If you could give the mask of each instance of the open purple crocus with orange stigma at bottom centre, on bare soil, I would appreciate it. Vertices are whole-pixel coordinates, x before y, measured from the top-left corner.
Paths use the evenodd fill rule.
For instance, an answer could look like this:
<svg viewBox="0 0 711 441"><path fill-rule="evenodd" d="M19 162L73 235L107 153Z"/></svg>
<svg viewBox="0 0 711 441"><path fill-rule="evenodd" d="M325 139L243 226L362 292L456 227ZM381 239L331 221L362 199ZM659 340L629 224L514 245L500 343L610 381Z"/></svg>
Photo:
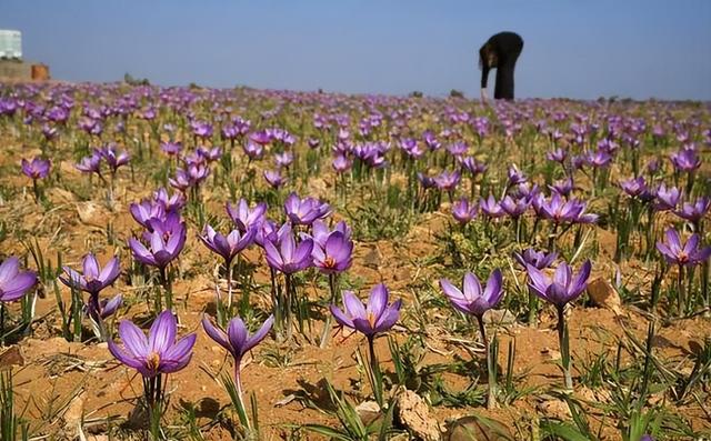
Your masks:
<svg viewBox="0 0 711 441"><path fill-rule="evenodd" d="M343 311L331 304L331 313L339 324L372 339L375 334L388 331L400 319L402 300L388 304L388 288L382 283L373 287L365 305L352 291L343 291Z"/></svg>

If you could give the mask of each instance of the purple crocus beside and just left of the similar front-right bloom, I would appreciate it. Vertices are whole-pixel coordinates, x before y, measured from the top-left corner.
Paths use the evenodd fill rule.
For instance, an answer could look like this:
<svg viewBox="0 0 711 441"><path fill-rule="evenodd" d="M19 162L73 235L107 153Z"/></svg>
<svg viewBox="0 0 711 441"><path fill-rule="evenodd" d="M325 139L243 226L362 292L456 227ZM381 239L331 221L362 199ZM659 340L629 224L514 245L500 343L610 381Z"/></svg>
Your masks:
<svg viewBox="0 0 711 441"><path fill-rule="evenodd" d="M449 280L440 279L440 288L454 309L477 318L483 317L484 312L499 304L503 297L502 283L501 270L499 269L491 273L487 281L487 288L483 290L477 275L471 272L464 274L462 290L454 287Z"/></svg>

